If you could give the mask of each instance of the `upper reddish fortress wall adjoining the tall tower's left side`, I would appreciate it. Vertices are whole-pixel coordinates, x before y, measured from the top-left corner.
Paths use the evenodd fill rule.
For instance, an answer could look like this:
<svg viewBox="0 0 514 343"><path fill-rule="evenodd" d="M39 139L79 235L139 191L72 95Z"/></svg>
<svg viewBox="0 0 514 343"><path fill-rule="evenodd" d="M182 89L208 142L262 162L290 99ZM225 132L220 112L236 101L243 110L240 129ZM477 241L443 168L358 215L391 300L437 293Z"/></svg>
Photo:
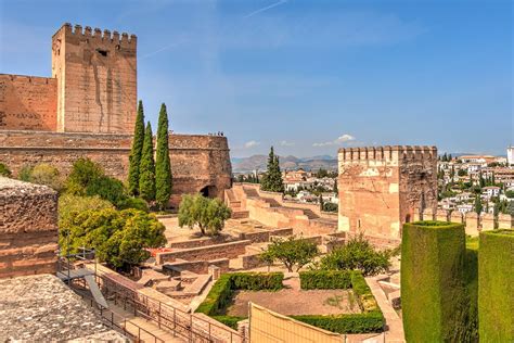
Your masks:
<svg viewBox="0 0 514 343"><path fill-rule="evenodd" d="M55 78L0 74L0 129L52 131L56 111Z"/></svg>

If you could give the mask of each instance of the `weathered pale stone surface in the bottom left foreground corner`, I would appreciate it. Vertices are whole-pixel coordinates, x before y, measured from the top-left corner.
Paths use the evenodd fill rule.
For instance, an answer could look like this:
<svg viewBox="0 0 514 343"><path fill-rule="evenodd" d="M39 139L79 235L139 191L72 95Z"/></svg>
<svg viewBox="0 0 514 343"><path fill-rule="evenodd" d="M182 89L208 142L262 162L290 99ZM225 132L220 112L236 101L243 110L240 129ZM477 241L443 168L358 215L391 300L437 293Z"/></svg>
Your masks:
<svg viewBox="0 0 514 343"><path fill-rule="evenodd" d="M83 342L81 338L102 336L126 341L55 276L0 280L0 294L1 342Z"/></svg>

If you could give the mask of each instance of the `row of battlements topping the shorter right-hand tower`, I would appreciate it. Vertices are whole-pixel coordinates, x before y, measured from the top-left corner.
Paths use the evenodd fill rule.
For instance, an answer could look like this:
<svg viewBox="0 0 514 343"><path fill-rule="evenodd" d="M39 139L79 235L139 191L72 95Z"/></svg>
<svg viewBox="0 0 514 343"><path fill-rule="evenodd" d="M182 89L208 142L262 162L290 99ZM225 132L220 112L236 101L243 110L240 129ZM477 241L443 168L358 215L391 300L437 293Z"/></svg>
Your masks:
<svg viewBox="0 0 514 343"><path fill-rule="evenodd" d="M339 162L367 161L415 161L437 158L437 148L427 145L383 145L342 148L338 151Z"/></svg>

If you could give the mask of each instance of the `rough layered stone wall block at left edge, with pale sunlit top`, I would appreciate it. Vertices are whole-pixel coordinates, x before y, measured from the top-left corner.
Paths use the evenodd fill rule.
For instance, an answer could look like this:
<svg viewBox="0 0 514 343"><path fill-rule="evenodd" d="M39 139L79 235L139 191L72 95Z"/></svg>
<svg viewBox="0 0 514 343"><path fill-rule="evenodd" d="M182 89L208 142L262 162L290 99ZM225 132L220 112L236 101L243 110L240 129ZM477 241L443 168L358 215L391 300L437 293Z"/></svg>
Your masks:
<svg viewBox="0 0 514 343"><path fill-rule="evenodd" d="M53 274L56 250L55 191L0 177L0 278Z"/></svg>

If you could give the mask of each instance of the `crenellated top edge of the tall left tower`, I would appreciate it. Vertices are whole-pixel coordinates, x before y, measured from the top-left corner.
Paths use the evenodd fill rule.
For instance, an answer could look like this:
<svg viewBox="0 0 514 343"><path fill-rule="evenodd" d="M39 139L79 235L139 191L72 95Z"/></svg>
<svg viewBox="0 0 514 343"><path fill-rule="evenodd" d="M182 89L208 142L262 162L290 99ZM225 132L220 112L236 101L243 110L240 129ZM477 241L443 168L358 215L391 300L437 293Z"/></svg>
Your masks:
<svg viewBox="0 0 514 343"><path fill-rule="evenodd" d="M78 38L80 41L86 41L87 43L102 42L103 45L120 46L126 49L136 49L138 42L136 35L129 35L127 33L121 33L120 35L116 30L111 33L108 29L102 30L98 27L91 28L90 26L86 26L82 29L81 25L77 24L72 26L69 23L63 24L52 38L55 38L60 34L64 34L65 38Z"/></svg>

